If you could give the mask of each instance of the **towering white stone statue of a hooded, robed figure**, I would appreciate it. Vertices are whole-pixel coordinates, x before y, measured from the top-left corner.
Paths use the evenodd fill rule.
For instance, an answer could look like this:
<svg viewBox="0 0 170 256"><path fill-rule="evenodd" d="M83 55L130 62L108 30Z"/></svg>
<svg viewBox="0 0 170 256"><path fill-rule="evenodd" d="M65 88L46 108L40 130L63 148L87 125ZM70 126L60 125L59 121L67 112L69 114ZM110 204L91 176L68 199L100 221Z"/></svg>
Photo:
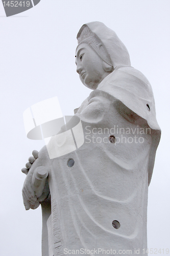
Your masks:
<svg viewBox="0 0 170 256"><path fill-rule="evenodd" d="M56 135L39 153L34 151L23 169L28 173L23 202L27 210L41 202L43 256L143 255L148 185L160 140L152 88L103 23L83 25L77 38L77 72L93 90L74 116L81 120L84 143L50 159ZM67 129L74 125L72 118ZM68 146L65 138L59 148ZM32 179L39 166L48 178L38 194Z"/></svg>

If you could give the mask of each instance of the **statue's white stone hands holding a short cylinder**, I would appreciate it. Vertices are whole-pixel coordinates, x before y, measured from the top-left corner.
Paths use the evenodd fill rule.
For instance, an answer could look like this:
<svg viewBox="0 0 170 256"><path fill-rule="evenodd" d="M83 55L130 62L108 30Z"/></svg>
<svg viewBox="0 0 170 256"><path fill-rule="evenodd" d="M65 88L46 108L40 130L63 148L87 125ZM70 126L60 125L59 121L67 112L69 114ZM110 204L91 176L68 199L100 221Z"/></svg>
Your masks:
<svg viewBox="0 0 170 256"><path fill-rule="evenodd" d="M47 172L50 168L46 148L43 147L39 153L38 151L33 151L32 154L33 157L30 157L29 162L26 164L27 168L22 168L22 173L27 175L22 188L23 204L25 205L26 210L29 210L30 208L36 209L40 202L44 201L50 193L47 179L45 182L41 182L41 185L37 187L38 183L35 181L34 177L37 175L38 168L46 169Z"/></svg>

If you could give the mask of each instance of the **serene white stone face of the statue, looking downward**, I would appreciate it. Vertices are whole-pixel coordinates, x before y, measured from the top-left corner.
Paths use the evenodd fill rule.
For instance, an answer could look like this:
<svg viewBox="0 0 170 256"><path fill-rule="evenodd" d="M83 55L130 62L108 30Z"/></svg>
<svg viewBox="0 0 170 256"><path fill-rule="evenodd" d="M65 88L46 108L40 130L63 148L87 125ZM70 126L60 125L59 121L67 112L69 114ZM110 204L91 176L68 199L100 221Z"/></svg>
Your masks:
<svg viewBox="0 0 170 256"><path fill-rule="evenodd" d="M87 44L77 48L76 65L80 80L92 90L108 75L103 68L102 58Z"/></svg>

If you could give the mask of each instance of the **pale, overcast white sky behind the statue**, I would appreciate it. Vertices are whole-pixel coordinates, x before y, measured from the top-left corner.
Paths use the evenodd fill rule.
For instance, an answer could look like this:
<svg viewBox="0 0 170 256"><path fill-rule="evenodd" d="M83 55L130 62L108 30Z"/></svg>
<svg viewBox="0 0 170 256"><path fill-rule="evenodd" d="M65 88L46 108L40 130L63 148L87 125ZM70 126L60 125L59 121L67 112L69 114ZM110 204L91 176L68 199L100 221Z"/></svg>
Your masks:
<svg viewBox="0 0 170 256"><path fill-rule="evenodd" d="M41 255L41 209L25 210L20 170L44 143L27 138L22 113L58 96L63 114L72 115L89 95L76 73L75 49L80 27L92 21L117 33L132 67L151 82L162 137L149 187L148 248L170 249L169 9L168 0L41 0L7 18L0 2L2 256Z"/></svg>

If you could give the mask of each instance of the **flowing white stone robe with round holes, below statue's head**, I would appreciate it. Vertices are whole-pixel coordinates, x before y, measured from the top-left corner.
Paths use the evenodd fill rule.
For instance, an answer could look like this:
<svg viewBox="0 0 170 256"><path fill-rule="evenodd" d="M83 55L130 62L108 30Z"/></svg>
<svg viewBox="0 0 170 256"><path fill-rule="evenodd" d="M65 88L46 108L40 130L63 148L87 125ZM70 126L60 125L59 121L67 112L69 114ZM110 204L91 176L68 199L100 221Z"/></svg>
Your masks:
<svg viewBox="0 0 170 256"><path fill-rule="evenodd" d="M160 140L150 83L132 67L118 66L75 116L81 119L84 144L50 160L49 256L74 250L93 255L94 249L99 255L113 255L111 249L135 255L139 249L143 255L148 184ZM109 142L110 135L116 143ZM62 146L66 145L67 138ZM69 159L75 161L72 167ZM114 220L118 229L112 226Z"/></svg>

